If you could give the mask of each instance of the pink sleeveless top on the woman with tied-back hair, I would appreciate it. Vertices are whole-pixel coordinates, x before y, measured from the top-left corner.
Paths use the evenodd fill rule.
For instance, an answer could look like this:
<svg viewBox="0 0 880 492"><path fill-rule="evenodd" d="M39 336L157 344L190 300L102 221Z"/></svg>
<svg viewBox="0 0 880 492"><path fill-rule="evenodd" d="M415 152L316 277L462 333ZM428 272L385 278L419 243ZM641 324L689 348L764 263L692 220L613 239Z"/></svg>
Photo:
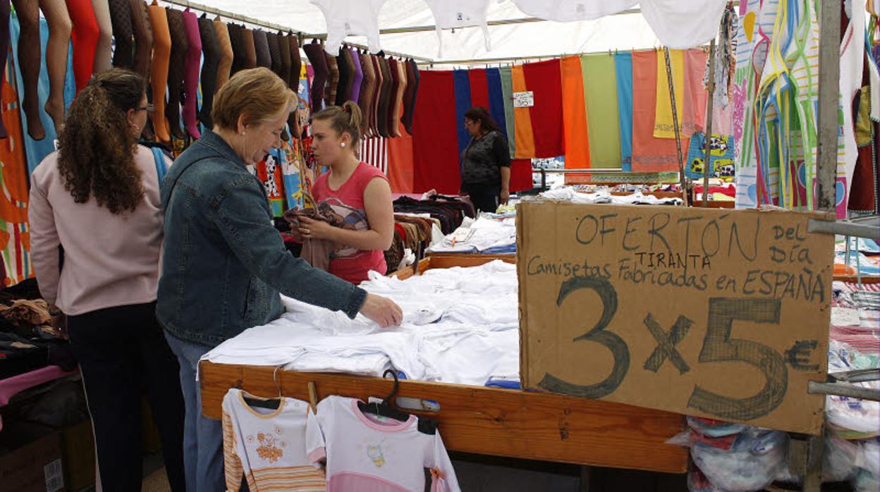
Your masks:
<svg viewBox="0 0 880 492"><path fill-rule="evenodd" d="M321 214L331 217L332 223L342 229L369 231L370 222L363 207L363 191L374 178L385 181L388 178L377 167L362 162L339 189L333 190L327 183L329 175L321 174L312 187L312 196ZM330 255L330 273L350 283L367 280L370 270L384 275L386 268L385 253L378 249L363 251L342 247Z"/></svg>

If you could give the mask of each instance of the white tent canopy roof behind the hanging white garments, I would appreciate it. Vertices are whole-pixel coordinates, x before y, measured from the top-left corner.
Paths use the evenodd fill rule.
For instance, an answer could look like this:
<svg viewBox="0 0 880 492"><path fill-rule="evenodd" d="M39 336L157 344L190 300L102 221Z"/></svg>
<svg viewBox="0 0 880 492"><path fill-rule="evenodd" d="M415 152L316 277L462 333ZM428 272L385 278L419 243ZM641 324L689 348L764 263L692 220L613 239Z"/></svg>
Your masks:
<svg viewBox="0 0 880 492"><path fill-rule="evenodd" d="M330 0L333 1L333 0ZM627 0L583 0L587 3L622 5ZM643 0L647 1L647 0ZM655 4L700 4L711 11L709 5L723 4L723 0L652 0ZM238 15L257 18L304 33L326 33L326 20L320 9L309 0L202 0L205 5L231 11ZM682 8L679 6L679 10ZM684 8L687 11L687 8ZM648 13L646 11L646 13ZM650 14L649 14L650 15ZM714 14L713 14L714 15ZM509 20L531 17L520 11L512 0L493 1L489 6L488 20ZM705 18L700 14L700 18ZM684 23L687 18L682 18ZM708 32L714 34L720 21L711 22ZM705 21L700 21L705 24ZM434 26L434 17L422 0L387 0L379 12L380 29L413 26ZM682 28L679 27L679 31ZM421 56L435 60L437 64L457 60L516 59L537 56L554 57L613 49L641 49L663 46L642 13L608 15L594 20L578 22L532 22L504 26L490 26L492 50L489 51L479 27L444 31L444 57L437 59L437 36L433 29L419 33L387 33L381 35L382 48L406 55ZM711 36L710 34L710 36ZM366 45L364 36L349 36L346 40ZM708 41L703 40L702 42ZM667 43L669 45L669 43ZM671 45L669 45L671 46Z"/></svg>

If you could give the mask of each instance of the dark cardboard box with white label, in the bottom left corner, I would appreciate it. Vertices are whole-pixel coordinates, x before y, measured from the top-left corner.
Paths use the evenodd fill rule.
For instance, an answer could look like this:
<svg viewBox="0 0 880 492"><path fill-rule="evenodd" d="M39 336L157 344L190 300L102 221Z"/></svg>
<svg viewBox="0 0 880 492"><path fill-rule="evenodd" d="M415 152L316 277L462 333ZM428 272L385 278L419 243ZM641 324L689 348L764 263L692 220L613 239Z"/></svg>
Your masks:
<svg viewBox="0 0 880 492"><path fill-rule="evenodd" d="M17 432L14 429L4 429L4 433L7 434L4 436L4 444L9 446L7 449L16 448L0 456L0 484L4 492L65 490L61 432L50 430L48 434L36 437L20 446L10 444L10 439L18 440L29 434L30 430L15 437L10 436ZM37 432L45 432L45 428Z"/></svg>

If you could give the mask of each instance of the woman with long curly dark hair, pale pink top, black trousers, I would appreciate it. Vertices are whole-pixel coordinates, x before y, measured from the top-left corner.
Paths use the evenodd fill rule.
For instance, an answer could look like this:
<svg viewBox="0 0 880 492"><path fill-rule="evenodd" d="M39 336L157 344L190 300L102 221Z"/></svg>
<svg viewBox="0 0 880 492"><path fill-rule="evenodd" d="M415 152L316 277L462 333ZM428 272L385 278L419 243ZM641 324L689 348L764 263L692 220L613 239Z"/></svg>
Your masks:
<svg viewBox="0 0 880 492"><path fill-rule="evenodd" d="M31 178L33 268L60 309L56 326L66 315L106 490L141 489L142 387L172 490L186 487L180 366L156 320L159 175L170 161L137 144L151 110L143 77L100 73L70 106L59 150Z"/></svg>

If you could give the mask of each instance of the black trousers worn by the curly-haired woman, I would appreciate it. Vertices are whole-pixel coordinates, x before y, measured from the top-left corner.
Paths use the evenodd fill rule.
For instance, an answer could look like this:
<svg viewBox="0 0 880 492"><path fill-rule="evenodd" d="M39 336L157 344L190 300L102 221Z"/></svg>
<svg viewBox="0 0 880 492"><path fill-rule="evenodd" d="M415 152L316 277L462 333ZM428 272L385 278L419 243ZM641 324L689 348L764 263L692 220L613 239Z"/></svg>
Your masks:
<svg viewBox="0 0 880 492"><path fill-rule="evenodd" d="M156 303L69 316L67 331L92 414L103 489L141 489L143 388L158 425L171 489L185 491L180 366L156 320Z"/></svg>

